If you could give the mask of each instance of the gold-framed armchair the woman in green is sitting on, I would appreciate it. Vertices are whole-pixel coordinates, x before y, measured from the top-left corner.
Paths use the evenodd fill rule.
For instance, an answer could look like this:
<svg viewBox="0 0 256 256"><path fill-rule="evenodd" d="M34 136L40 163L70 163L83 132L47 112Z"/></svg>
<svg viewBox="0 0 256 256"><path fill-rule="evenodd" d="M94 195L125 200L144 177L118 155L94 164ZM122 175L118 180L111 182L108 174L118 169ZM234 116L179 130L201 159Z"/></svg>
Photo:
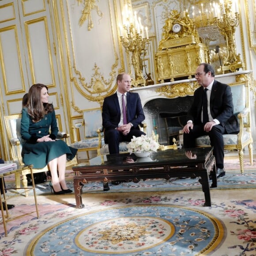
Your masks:
<svg viewBox="0 0 256 256"><path fill-rule="evenodd" d="M23 166L23 159L21 156L22 151L22 138L20 134L20 123L21 123L21 114L18 115L11 115L11 116L4 116L5 126L7 130L7 136L9 141L10 153L11 153L11 160L16 162L18 165ZM59 132L57 139L67 139L69 137L68 134L64 132ZM66 140L66 143L68 141ZM77 164L77 159L73 158L71 161L67 161L67 166ZM43 169L33 169L33 173L40 173L48 171L48 166L45 166ZM22 175L22 182L23 187L27 188L27 179L26 174L29 174L30 170L25 169L22 172L15 174L15 184L16 188L20 188L20 174ZM25 191L25 196L28 196L27 192Z"/></svg>

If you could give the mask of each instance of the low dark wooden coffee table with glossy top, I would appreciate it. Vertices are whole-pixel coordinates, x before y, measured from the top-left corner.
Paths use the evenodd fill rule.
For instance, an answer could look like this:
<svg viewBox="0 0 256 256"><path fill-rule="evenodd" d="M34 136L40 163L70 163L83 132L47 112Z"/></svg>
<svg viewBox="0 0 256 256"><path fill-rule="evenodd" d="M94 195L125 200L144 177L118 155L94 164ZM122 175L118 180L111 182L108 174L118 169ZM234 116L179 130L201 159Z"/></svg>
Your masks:
<svg viewBox="0 0 256 256"><path fill-rule="evenodd" d="M211 206L209 174L211 187L217 187L215 157L213 148L192 148L166 150L152 153L150 158L137 158L134 154L100 155L72 167L76 207L83 208L83 184L89 181L102 181L108 188L109 181L139 180L171 177L200 177L205 196L204 206ZM189 154L192 153L192 154ZM190 155L191 158L188 158ZM102 186L103 188L103 186Z"/></svg>

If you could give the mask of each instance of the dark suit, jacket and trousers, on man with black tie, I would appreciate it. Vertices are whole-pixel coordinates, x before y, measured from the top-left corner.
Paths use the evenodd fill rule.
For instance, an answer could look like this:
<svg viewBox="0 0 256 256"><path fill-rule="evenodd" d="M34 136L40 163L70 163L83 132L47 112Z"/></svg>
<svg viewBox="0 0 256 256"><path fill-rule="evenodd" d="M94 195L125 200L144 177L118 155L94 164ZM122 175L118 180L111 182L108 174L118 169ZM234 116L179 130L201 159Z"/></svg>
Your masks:
<svg viewBox="0 0 256 256"><path fill-rule="evenodd" d="M211 146L214 147L217 168L223 168L224 142L222 134L239 132L239 124L233 116L233 98L231 88L227 84L214 81L210 97L210 111L213 119L217 119L220 124L212 127L210 132L204 132L201 122L203 103L203 87L195 90L194 101L188 111L187 120L192 120L194 127L189 133L184 133L184 147L195 147L197 137L208 135Z"/></svg>

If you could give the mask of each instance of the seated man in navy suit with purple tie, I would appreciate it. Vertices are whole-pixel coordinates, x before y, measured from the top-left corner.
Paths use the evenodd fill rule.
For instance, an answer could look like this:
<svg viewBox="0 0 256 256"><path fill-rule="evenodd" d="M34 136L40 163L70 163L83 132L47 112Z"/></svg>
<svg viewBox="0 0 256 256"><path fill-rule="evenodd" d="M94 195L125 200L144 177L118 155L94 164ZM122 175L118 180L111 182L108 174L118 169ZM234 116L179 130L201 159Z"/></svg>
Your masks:
<svg viewBox="0 0 256 256"><path fill-rule="evenodd" d="M145 119L143 108L139 94L129 92L131 81L131 76L126 73L117 75L117 92L103 102L102 125L109 154L119 153L120 142L131 141L132 136L145 135L139 130L139 124Z"/></svg>

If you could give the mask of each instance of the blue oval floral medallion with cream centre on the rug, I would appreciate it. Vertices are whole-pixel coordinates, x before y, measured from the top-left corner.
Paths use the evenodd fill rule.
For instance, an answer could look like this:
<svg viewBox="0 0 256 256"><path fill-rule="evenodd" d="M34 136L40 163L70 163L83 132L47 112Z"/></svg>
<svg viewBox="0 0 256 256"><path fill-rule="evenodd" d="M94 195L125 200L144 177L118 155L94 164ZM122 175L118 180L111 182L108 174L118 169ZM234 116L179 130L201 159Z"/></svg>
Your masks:
<svg viewBox="0 0 256 256"><path fill-rule="evenodd" d="M50 227L34 237L27 255L206 255L221 243L223 230L218 219L188 207L113 207Z"/></svg>

